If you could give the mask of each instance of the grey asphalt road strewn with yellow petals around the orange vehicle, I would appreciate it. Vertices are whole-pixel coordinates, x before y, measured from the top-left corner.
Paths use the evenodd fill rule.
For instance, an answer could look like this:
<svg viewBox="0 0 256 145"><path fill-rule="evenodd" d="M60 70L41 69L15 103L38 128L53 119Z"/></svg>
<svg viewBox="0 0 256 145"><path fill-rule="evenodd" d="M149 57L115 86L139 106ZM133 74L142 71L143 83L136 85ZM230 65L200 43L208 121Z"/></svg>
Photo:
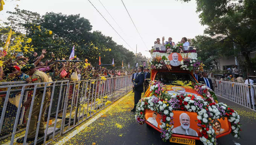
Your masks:
<svg viewBox="0 0 256 145"><path fill-rule="evenodd" d="M256 145L256 112L241 105L219 98L241 115L241 138L232 135L217 139L218 145ZM135 121L133 107L133 93L125 96L120 103L115 104L105 115L94 121L87 128L75 135L65 144L80 145L177 145L163 142L160 133L146 124L140 125ZM200 141L196 145L202 144Z"/></svg>

